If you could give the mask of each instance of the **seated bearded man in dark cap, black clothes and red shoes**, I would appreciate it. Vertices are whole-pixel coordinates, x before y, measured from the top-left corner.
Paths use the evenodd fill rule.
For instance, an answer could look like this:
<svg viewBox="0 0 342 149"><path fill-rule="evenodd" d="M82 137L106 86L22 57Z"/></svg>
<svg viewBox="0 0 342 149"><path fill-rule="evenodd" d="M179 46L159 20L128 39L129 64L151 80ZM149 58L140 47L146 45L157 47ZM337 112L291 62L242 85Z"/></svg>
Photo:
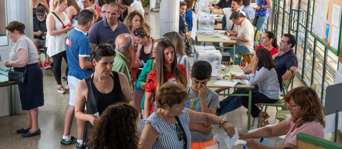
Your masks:
<svg viewBox="0 0 342 149"><path fill-rule="evenodd" d="M33 17L33 35L34 35L33 43L35 44L36 49L39 54L38 48L45 47L45 39L46 39L46 32L47 32L45 8L43 6L38 6L36 8L36 15L37 16ZM44 62L45 70L52 68L49 60L50 60L50 56L46 55L45 62ZM43 67L40 60L39 60L38 65L40 68Z"/></svg>

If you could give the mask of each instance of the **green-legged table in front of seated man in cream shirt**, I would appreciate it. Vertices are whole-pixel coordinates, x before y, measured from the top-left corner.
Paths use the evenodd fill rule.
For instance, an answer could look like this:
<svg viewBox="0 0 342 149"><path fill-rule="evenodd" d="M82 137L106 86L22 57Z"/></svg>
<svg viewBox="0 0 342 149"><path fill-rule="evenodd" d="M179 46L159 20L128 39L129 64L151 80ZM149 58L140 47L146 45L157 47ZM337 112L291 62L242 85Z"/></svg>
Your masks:
<svg viewBox="0 0 342 149"><path fill-rule="evenodd" d="M224 31L222 31L224 32ZM233 44L233 47L215 47L215 48L225 48L225 49L233 49L233 55L231 55L233 57L233 62L235 63L235 44L236 44L236 40L225 40L225 39L222 39L221 36L215 36L216 32L214 32L214 35L211 35L211 36L200 36L198 34L198 30L196 32L197 34L197 42L198 44L197 45L201 45L201 42L207 42L207 43L232 43ZM215 37L215 38L213 38ZM229 36L226 36L226 37L229 37Z"/></svg>

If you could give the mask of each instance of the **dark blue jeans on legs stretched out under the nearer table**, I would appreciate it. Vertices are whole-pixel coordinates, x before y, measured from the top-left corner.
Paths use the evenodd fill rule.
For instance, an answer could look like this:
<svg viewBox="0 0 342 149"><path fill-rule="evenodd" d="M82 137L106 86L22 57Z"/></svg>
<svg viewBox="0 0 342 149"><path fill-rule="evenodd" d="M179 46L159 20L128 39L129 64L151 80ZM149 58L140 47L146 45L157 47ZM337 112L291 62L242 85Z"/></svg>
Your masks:
<svg viewBox="0 0 342 149"><path fill-rule="evenodd" d="M252 93L259 93L258 84L254 85ZM232 94L248 94L247 88L237 88ZM248 97L248 96L246 96ZM248 99L248 98L247 98ZM228 96L227 98L220 101L220 115L224 115L228 112L238 109L242 106L241 96Z"/></svg>

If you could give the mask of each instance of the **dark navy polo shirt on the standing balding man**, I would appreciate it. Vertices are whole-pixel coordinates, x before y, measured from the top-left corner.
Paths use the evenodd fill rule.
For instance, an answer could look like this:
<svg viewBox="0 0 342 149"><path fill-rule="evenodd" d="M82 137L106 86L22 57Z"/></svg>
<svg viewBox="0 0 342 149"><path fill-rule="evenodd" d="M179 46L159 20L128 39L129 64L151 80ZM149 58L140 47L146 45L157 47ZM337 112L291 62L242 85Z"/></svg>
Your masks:
<svg viewBox="0 0 342 149"><path fill-rule="evenodd" d="M108 26L107 19L104 19L93 24L88 38L90 43L97 45L106 43L106 41L109 39L115 40L117 36L124 33L130 34L131 31L129 30L128 26L119 21L119 19L118 26L114 31Z"/></svg>

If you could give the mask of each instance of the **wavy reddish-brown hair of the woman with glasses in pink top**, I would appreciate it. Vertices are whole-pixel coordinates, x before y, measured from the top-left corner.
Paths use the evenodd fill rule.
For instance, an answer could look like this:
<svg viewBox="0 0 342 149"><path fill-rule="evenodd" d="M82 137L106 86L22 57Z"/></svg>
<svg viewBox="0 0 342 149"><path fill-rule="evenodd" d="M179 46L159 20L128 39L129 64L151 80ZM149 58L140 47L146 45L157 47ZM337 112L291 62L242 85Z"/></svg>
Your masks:
<svg viewBox="0 0 342 149"><path fill-rule="evenodd" d="M296 123L296 127L302 126L304 123L314 121L315 119L325 128L324 115L322 113L322 105L318 95L314 89L308 86L299 86L291 89L285 95L285 102L291 100L302 107L302 112L298 117L292 117L292 122Z"/></svg>

